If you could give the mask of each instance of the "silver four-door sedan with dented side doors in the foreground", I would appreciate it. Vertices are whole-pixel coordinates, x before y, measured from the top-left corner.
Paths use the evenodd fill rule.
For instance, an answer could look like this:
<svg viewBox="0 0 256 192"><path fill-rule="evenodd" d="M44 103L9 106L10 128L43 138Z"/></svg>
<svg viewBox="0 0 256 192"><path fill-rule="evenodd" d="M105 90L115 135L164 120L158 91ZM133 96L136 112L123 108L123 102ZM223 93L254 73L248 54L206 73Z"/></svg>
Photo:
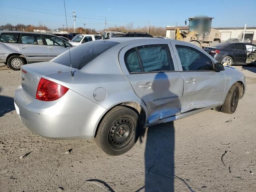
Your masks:
<svg viewBox="0 0 256 192"><path fill-rule="evenodd" d="M130 150L141 128L212 108L232 114L246 88L240 71L190 43L162 38L88 42L22 66L21 79L14 104L30 130L95 138L109 155Z"/></svg>

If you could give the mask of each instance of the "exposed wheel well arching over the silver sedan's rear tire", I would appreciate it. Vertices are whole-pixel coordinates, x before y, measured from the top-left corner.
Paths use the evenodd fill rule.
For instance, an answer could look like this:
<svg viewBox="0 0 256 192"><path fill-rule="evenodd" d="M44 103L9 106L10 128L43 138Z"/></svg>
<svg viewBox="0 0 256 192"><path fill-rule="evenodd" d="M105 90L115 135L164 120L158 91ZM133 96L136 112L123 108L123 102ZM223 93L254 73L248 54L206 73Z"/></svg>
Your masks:
<svg viewBox="0 0 256 192"><path fill-rule="evenodd" d="M115 105L114 107L116 106L126 106L132 110L134 110L140 117L140 123L142 125L142 127L144 127L144 124L146 122L146 113L144 111L144 109L142 108L142 106L140 106L140 104L136 103L136 102L123 102L123 103L120 103L120 104L117 104ZM106 116L106 114L108 114L108 112L110 112L114 107L110 108L105 114L104 116L102 116L102 118L100 119L98 125L97 125L97 128L96 128L96 131L95 131L95 134L94 134L94 138L96 137L97 135L97 132L98 132L98 128L100 126L100 123L102 122L103 118Z"/></svg>

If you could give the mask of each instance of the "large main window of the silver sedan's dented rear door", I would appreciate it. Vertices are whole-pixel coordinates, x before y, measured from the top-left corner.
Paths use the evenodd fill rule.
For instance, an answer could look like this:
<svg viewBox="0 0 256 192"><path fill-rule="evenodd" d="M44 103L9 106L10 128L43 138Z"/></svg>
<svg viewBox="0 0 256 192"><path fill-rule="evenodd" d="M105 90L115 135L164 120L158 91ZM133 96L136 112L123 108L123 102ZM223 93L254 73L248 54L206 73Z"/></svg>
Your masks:
<svg viewBox="0 0 256 192"><path fill-rule="evenodd" d="M144 72L174 71L170 49L166 44L138 47Z"/></svg>

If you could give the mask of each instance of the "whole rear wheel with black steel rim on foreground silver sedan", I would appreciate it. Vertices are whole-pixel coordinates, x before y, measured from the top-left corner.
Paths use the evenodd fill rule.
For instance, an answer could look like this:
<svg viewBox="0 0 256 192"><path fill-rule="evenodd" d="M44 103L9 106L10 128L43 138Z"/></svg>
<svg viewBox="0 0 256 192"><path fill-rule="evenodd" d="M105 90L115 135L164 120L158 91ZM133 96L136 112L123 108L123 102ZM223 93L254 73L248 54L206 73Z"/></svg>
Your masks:
<svg viewBox="0 0 256 192"><path fill-rule="evenodd" d="M103 118L96 143L108 155L117 156L130 150L139 137L139 115L126 106L116 106Z"/></svg>

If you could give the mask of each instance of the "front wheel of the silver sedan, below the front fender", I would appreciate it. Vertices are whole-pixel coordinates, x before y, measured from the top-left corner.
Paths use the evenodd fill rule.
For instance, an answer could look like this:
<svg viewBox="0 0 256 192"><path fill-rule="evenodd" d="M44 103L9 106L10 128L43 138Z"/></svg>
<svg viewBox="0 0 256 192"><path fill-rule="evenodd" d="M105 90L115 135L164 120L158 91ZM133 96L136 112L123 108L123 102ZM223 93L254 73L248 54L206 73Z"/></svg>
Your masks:
<svg viewBox="0 0 256 192"><path fill-rule="evenodd" d="M222 106L222 112L233 114L236 111L238 100L239 100L239 87L237 84L233 84L230 90L228 91L228 94Z"/></svg>

